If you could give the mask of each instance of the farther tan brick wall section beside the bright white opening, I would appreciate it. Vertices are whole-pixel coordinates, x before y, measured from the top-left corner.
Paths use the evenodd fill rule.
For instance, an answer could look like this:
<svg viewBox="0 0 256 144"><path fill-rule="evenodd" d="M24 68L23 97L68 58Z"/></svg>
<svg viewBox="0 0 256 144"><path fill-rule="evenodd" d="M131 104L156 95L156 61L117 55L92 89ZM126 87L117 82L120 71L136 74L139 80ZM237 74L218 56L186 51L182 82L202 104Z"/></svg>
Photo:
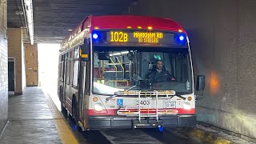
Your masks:
<svg viewBox="0 0 256 144"><path fill-rule="evenodd" d="M38 44L25 44L26 86L38 86Z"/></svg>

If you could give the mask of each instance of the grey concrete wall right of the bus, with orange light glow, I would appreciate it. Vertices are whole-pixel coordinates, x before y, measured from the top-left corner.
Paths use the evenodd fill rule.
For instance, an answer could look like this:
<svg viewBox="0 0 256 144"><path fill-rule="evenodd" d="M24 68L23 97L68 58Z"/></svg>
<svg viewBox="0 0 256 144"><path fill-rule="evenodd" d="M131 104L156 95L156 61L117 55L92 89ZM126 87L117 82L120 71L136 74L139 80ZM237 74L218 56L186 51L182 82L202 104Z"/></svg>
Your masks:
<svg viewBox="0 0 256 144"><path fill-rule="evenodd" d="M190 37L194 73L206 76L198 121L256 138L256 1L142 0L131 14L172 18Z"/></svg>

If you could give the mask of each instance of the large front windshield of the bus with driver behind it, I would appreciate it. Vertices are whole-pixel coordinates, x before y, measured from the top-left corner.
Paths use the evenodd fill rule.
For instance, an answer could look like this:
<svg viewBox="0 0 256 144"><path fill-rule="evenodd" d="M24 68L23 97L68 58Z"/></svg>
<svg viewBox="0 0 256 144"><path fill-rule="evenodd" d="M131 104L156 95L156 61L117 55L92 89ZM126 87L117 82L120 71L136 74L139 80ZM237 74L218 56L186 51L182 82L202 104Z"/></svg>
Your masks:
<svg viewBox="0 0 256 144"><path fill-rule="evenodd" d="M175 90L192 93L187 48L94 47L94 93L119 90Z"/></svg>

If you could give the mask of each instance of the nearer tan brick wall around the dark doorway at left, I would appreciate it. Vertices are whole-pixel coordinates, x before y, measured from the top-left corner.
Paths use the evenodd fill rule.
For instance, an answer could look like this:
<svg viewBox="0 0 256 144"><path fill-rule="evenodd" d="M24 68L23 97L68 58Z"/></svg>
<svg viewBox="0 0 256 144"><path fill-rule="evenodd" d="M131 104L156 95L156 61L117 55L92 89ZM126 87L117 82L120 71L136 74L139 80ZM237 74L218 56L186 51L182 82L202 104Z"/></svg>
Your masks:
<svg viewBox="0 0 256 144"><path fill-rule="evenodd" d="M8 57L15 58L15 94L22 94L26 88L25 54L22 29L8 28Z"/></svg>

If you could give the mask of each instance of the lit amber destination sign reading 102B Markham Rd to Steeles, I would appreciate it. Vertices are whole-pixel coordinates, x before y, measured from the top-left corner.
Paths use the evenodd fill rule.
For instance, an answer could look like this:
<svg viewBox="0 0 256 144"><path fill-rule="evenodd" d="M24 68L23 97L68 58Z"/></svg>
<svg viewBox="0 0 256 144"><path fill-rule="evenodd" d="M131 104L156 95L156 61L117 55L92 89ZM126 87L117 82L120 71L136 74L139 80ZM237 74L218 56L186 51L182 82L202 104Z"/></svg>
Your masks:
<svg viewBox="0 0 256 144"><path fill-rule="evenodd" d="M108 44L136 44L136 45L168 45L174 43L174 34L153 32L113 30L106 32Z"/></svg>

